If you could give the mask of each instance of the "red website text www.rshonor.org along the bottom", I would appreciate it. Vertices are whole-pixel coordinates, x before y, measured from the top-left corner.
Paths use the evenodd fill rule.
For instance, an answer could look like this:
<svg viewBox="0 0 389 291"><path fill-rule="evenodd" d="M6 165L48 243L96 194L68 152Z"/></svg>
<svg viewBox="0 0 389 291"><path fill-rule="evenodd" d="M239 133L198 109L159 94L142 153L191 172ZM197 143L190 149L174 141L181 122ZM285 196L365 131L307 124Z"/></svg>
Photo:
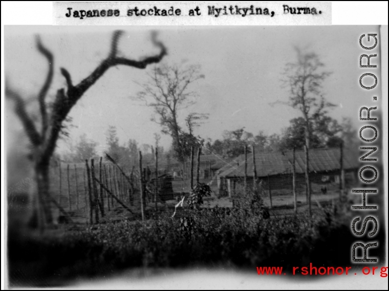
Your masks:
<svg viewBox="0 0 389 291"><path fill-rule="evenodd" d="M362 272L361 272L362 271ZM315 267L312 263L309 267L293 267L293 275L379 275L382 278L387 277L387 267L365 266L358 273L353 273L351 267ZM286 275L283 273L283 267L256 267L258 275Z"/></svg>

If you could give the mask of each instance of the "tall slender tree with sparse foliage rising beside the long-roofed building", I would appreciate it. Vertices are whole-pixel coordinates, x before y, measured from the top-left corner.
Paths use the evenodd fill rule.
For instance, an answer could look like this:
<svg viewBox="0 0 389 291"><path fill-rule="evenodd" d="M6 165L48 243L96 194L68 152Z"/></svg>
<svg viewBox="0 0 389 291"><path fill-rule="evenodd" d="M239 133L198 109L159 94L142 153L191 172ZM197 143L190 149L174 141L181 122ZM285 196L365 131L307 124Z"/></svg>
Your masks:
<svg viewBox="0 0 389 291"><path fill-rule="evenodd" d="M306 189L309 212L311 214L311 189L309 181L309 148L312 128L311 120L320 116L320 111L333 107L322 97L322 82L331 74L322 70L325 66L314 52L303 52L295 48L297 60L287 63L284 72L284 84L289 88L287 102L293 108L301 111L305 120L305 147L306 147Z"/></svg>

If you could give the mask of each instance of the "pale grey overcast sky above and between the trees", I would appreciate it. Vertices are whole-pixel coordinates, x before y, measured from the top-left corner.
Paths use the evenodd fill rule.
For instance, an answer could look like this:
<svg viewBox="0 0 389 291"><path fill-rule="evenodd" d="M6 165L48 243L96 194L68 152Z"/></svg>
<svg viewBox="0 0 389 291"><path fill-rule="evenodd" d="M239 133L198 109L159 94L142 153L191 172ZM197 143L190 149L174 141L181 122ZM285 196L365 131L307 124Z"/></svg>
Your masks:
<svg viewBox="0 0 389 291"><path fill-rule="evenodd" d="M114 29L5 27L5 74L9 83L31 99L44 81L48 66L36 51L36 33L55 57L56 74L50 91L54 95L56 89L65 86L59 68L66 68L73 82L79 82L107 55ZM125 31L119 43L122 55L138 59L158 52L150 41L150 28L120 29ZM205 79L191 84L199 95L197 104L180 111L179 120L184 127L188 113L209 113L207 122L195 131L202 138L220 139L224 130L241 127L254 135L260 130L280 133L291 118L300 116L299 111L288 106L270 105L288 100L287 88L282 87L280 78L286 63L296 59L294 46L316 52L326 70L333 72L322 88L323 96L337 105L330 113L333 118L340 122L343 117L350 117L358 127L359 108L381 104L380 83L369 91L359 86L360 75L368 72L359 69L359 56L366 54L359 46L359 37L379 33L378 27L158 27L158 31L159 39L168 49L163 62L201 65ZM367 53L379 56L379 50L373 51ZM372 64L379 64L379 58L373 58ZM160 133L161 128L150 121L153 109L129 98L140 91L137 82L146 80L150 68L111 68L71 110L70 139L59 142L59 151L69 150L70 142L75 142L82 133L98 142L98 150L103 151L109 125L117 127L121 144L128 139L154 144L154 133ZM371 72L379 75L379 69ZM378 96L374 105L372 96ZM33 101L29 104L34 106ZM13 145L13 132L20 130L21 124L11 113L7 114L6 122L7 144ZM167 148L170 143L171 139L162 135L161 144Z"/></svg>

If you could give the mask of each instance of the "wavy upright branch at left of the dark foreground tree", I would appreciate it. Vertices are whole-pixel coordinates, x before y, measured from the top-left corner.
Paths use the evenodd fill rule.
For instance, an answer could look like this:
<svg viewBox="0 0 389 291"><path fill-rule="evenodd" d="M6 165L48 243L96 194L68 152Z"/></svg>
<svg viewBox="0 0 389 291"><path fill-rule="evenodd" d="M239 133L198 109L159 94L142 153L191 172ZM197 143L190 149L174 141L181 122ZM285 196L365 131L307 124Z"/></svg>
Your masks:
<svg viewBox="0 0 389 291"><path fill-rule="evenodd" d="M53 58L53 54L47 48L44 47L39 36L36 37L36 46L37 46L38 51L47 58L47 61L49 63L49 71L47 73L45 83L43 84L43 86L40 89L39 94L38 94L40 115L42 117L42 137L43 137L43 136L45 136L46 131L47 131L47 127L48 127L45 98L46 98L47 92L49 91L51 82L53 80L54 58Z"/></svg>

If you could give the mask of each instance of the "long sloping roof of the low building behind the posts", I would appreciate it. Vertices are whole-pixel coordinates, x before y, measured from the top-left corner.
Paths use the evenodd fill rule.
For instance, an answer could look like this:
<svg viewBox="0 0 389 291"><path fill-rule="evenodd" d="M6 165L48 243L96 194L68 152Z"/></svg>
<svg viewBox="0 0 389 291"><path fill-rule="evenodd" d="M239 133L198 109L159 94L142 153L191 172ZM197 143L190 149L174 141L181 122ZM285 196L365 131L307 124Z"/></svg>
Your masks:
<svg viewBox="0 0 389 291"><path fill-rule="evenodd" d="M244 177L245 164L244 154L240 155L229 167L224 167L220 171L222 177ZM238 163L239 162L239 165ZM256 152L255 168L257 177L267 175L279 175L292 173L293 151L287 152ZM296 150L295 152L296 173L305 172L305 152ZM350 152L343 151L343 168L345 170L358 167L358 159ZM330 172L340 169L340 149L320 148L309 150L309 171L310 172ZM247 175L253 176L252 153L247 154Z"/></svg>

